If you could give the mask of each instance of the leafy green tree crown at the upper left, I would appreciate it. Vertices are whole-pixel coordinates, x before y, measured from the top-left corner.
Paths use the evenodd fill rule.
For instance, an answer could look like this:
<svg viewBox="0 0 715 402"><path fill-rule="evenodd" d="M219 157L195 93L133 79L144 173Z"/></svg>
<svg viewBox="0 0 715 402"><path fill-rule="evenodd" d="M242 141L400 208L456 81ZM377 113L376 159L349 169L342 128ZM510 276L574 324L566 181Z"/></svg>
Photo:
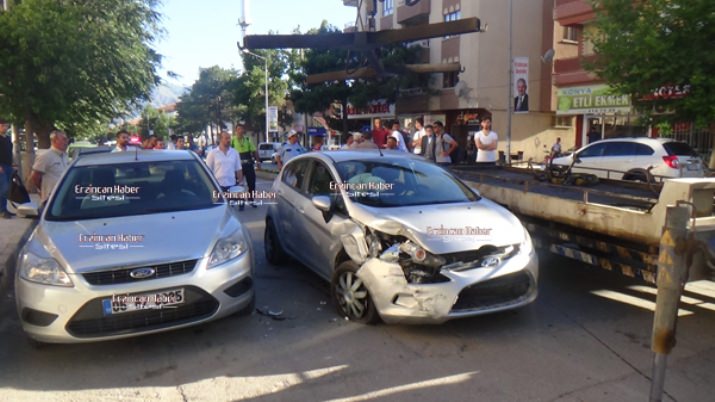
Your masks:
<svg viewBox="0 0 715 402"><path fill-rule="evenodd" d="M0 13L0 112L49 146L46 128L87 130L158 82L156 0L23 0Z"/></svg>

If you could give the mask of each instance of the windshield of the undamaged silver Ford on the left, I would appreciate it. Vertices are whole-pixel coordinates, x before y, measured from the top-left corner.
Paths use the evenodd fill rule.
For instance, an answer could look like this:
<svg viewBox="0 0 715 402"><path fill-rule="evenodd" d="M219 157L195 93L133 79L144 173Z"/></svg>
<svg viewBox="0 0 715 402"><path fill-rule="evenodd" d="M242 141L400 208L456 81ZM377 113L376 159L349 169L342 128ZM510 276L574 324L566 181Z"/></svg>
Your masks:
<svg viewBox="0 0 715 402"><path fill-rule="evenodd" d="M186 211L216 205L214 184L195 160L74 167L47 220L81 220Z"/></svg>

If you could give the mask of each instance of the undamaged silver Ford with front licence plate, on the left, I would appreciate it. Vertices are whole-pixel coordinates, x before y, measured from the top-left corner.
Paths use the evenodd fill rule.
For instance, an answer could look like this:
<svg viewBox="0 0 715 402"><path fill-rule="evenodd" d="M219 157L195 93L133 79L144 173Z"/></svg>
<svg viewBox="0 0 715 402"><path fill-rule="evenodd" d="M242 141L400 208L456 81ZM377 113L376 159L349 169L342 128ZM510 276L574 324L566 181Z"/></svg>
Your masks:
<svg viewBox="0 0 715 402"><path fill-rule="evenodd" d="M248 232L193 152L89 154L21 249L16 304L41 342L124 338L252 311L253 271Z"/></svg>

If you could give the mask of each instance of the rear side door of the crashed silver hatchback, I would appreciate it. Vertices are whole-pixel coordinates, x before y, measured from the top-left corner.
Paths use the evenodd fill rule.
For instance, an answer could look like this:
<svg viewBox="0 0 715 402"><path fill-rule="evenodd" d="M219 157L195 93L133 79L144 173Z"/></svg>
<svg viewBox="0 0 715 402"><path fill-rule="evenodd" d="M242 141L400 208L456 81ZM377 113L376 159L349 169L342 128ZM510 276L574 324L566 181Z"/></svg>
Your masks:
<svg viewBox="0 0 715 402"><path fill-rule="evenodd" d="M280 233L282 245L289 254L304 261L300 242L301 219L298 218L299 206L307 199L307 185L310 160L297 160L285 166L278 186L278 216L275 224Z"/></svg>

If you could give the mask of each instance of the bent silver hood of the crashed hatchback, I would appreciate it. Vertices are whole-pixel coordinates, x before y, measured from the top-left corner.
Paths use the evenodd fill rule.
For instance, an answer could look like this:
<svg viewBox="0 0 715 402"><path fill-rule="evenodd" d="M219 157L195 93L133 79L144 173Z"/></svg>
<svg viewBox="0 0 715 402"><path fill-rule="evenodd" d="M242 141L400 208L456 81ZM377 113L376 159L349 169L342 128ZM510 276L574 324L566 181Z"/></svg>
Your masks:
<svg viewBox="0 0 715 402"><path fill-rule="evenodd" d="M477 202L375 208L353 204L351 217L375 230L403 235L434 254L520 244L521 222L500 205Z"/></svg>

